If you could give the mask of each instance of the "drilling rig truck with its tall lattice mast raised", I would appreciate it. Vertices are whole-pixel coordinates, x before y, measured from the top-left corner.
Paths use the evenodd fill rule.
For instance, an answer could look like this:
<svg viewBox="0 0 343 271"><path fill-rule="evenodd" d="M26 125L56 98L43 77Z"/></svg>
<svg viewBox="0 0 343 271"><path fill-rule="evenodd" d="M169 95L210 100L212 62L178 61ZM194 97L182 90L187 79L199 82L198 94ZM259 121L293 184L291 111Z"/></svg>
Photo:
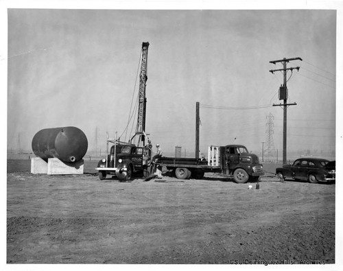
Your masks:
<svg viewBox="0 0 343 271"><path fill-rule="evenodd" d="M145 133L146 103L145 88L147 82L147 49L149 43L143 43L141 49L141 67L139 73L139 103L136 132L128 143L117 139L106 139L106 158L97 164L99 179L107 175L115 175L120 181L130 180L132 174L140 174L145 178L152 172L152 145ZM137 143L134 143L137 141ZM109 144L113 144L108 151Z"/></svg>

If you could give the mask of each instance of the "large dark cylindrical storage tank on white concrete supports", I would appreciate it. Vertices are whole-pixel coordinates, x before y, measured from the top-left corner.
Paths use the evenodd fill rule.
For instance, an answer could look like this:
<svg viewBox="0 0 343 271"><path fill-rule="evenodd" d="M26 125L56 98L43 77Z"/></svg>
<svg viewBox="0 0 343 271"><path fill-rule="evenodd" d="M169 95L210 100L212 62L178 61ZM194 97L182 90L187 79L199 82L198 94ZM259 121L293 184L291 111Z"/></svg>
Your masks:
<svg viewBox="0 0 343 271"><path fill-rule="evenodd" d="M73 126L43 129L32 139L34 154L45 161L58 158L65 163L74 163L83 158L87 148L86 135Z"/></svg>

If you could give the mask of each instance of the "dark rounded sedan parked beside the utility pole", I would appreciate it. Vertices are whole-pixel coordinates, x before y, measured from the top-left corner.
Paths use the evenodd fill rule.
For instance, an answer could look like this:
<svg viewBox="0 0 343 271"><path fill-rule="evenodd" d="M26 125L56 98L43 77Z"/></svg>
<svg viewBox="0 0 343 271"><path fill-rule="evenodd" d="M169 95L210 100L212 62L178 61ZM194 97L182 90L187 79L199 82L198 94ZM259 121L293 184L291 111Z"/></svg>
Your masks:
<svg viewBox="0 0 343 271"><path fill-rule="evenodd" d="M335 181L335 161L322 158L298 158L294 163L276 168L281 179L308 180L311 183Z"/></svg>

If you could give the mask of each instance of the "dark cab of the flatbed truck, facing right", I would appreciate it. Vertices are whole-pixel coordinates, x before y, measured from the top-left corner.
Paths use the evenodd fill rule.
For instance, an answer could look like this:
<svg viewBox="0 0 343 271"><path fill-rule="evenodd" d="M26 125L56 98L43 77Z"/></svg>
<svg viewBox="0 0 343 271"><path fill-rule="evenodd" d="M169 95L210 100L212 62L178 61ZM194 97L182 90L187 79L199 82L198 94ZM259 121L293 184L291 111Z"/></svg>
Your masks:
<svg viewBox="0 0 343 271"><path fill-rule="evenodd" d="M258 180L263 175L259 156L248 152L244 145L226 145L220 148L223 172L233 174L236 182Z"/></svg>

